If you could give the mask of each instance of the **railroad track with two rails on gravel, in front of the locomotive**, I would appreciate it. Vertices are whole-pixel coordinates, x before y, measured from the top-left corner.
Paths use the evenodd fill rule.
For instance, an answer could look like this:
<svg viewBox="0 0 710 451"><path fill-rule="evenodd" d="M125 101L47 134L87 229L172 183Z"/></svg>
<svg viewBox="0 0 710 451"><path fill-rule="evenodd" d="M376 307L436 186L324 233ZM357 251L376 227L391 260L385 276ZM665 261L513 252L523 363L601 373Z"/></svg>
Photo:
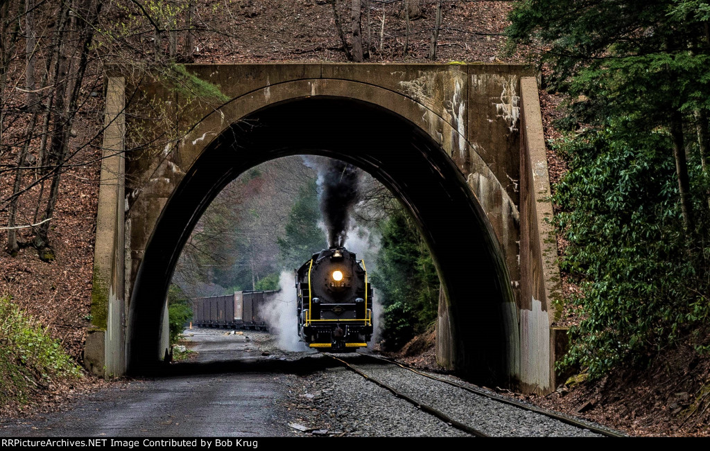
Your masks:
<svg viewBox="0 0 710 451"><path fill-rule="evenodd" d="M351 355L356 356L354 358L332 354L327 354L327 356L337 360L352 372L390 391L400 399L412 403L420 410L430 413L430 415L452 425L454 428L476 437L518 434L535 435L536 433L545 435L596 434L606 437L624 436L616 431L579 421L576 418L490 394L474 386L466 386L432 374L419 372L416 369L383 357L368 354ZM368 365L363 360L376 362L376 366ZM389 369L383 367L383 364ZM396 367L401 374L392 372L393 367ZM417 377L413 379L409 373L416 374ZM404 377L403 374L409 374L409 376ZM426 379L429 382L424 383ZM445 389L445 386L448 386L449 389ZM447 399L456 399L457 402L447 402ZM469 408L474 410L474 414L467 411ZM476 409L478 409L478 413L475 413ZM493 412L493 416L491 416L491 412ZM503 419L496 418L496 416L500 416ZM544 417L546 420L542 421L539 416ZM525 425L526 423L527 426ZM560 426L559 423L564 426ZM520 424L523 425L523 430L516 430L515 428ZM528 433L525 433L525 430Z"/></svg>

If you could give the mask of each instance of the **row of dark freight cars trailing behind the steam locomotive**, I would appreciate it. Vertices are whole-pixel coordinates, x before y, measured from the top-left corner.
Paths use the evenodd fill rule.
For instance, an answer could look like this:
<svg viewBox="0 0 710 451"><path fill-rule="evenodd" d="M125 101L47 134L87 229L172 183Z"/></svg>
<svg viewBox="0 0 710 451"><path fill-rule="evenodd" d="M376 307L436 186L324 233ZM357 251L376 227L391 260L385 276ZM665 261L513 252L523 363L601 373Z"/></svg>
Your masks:
<svg viewBox="0 0 710 451"><path fill-rule="evenodd" d="M268 330L264 306L278 291L235 291L192 299L192 325L207 328Z"/></svg>

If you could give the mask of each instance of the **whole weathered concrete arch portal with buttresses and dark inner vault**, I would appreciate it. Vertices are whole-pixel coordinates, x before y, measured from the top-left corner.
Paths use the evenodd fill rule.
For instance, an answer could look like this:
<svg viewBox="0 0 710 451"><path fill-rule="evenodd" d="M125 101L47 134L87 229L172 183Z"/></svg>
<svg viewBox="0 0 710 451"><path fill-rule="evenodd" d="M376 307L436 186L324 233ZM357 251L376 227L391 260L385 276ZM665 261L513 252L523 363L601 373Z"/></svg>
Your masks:
<svg viewBox="0 0 710 451"><path fill-rule="evenodd" d="M523 77L525 68L187 69L231 100L215 106L143 84L125 124L124 79L109 77L92 299L97 330L87 338L87 367L151 372L165 350L161 323L173 269L209 203L251 167L313 154L369 172L417 221L445 287L439 360L476 382L555 386L548 304L556 255L541 238L550 233L549 212L539 205L549 182L544 143L542 161L531 157L540 152L542 130L537 85ZM165 121L172 135L156 133ZM124 160L126 140L143 150Z"/></svg>

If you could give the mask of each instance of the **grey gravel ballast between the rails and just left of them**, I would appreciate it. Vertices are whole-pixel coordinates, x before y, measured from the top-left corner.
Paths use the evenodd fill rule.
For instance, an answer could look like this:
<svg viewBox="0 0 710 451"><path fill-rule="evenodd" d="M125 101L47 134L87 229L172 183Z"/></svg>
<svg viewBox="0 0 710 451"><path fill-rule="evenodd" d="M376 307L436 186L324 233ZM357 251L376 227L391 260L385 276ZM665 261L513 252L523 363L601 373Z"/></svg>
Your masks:
<svg viewBox="0 0 710 451"><path fill-rule="evenodd" d="M493 437L593 437L597 435L589 430L561 423L539 413L499 403L450 384L423 377L396 365L372 360L365 355L339 355L338 357L364 372L368 377L377 379L399 393L415 399L417 403L434 408L452 418L452 421L468 425L486 435ZM347 371L344 368L342 370ZM386 389L370 382L363 387L366 391L364 396L354 397L352 391L346 387L336 386L334 381L345 380L348 381L348 384L359 388L358 382L353 380L350 375L360 377L361 380L364 379L349 371L346 374L337 372L337 369L329 371L332 373L331 378L319 373L313 374L310 379L307 379L307 382L310 382L312 391L320 392L320 397L314 399L312 403L317 408L316 412L320 416L324 414L329 416L329 420L334 423L336 428L348 430L352 423L354 426L351 427L357 428L359 422L362 423L362 418L364 418L362 417L363 409L367 408L368 401L371 399L369 402L374 404L375 410L373 415L369 416L368 426L377 428L376 433L381 434L383 430L386 430L387 435L400 435L410 433L411 430L415 430L416 433L418 428L419 432L425 433L425 435L438 435L437 430L431 429L431 426L428 425L433 420L431 416L428 417L427 423L420 422L422 421L421 415L410 416L410 423L403 423L398 418L400 412L403 411L403 408L400 407L402 400L395 399L398 403L388 406L387 403L392 401L393 396ZM448 377L459 384L462 382L457 377ZM344 391L344 394L339 391ZM420 411L420 413L422 412ZM326 418L325 421L327 422L328 419ZM447 434L452 432L447 431ZM460 433L458 430L457 432Z"/></svg>

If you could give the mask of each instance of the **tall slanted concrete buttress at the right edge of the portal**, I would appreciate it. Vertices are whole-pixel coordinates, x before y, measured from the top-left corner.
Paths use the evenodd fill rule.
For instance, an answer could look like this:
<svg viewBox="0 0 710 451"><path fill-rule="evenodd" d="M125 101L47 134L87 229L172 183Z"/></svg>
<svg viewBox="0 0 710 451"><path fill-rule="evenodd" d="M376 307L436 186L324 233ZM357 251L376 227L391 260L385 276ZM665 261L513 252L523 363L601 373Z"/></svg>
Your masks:
<svg viewBox="0 0 710 451"><path fill-rule="evenodd" d="M559 299L557 239L552 220L550 176L537 81L520 80L523 130L520 139L520 382L523 389L555 388L555 340L550 325ZM547 362L547 364L544 364Z"/></svg>

